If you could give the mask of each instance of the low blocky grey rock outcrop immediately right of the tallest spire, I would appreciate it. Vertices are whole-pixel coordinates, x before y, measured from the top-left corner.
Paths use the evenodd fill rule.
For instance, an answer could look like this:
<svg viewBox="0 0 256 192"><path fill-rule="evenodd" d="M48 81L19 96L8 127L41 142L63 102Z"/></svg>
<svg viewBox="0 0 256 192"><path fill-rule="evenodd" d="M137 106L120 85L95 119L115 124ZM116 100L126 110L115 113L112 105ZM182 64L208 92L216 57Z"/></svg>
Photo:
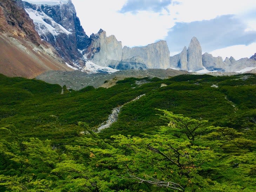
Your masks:
<svg viewBox="0 0 256 192"><path fill-rule="evenodd" d="M213 55L209 53L204 53L202 55L202 62L203 66L208 70L208 71L224 71L223 69L223 60L222 57L213 57Z"/></svg>

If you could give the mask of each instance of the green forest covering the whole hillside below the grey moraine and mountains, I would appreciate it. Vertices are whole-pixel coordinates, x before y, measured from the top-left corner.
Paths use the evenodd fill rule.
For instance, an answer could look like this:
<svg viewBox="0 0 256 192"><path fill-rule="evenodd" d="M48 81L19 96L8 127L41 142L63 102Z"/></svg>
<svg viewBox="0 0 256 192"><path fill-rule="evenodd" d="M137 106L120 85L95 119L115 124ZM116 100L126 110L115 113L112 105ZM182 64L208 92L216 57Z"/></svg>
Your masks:
<svg viewBox="0 0 256 192"><path fill-rule="evenodd" d="M0 74L0 89L1 192L255 191L254 74L79 91Z"/></svg>

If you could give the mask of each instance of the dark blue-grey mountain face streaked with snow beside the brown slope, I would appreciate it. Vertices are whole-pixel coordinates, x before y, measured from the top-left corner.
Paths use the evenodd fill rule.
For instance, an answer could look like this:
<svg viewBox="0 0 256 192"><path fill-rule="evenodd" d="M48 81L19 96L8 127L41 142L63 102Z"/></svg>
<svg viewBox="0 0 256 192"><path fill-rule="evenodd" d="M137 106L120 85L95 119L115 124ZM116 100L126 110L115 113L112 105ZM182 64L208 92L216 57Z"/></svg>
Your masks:
<svg viewBox="0 0 256 192"><path fill-rule="evenodd" d="M80 25L71 0L56 5L36 1L23 4L41 39L49 42L69 64L85 66L83 54L91 40Z"/></svg>

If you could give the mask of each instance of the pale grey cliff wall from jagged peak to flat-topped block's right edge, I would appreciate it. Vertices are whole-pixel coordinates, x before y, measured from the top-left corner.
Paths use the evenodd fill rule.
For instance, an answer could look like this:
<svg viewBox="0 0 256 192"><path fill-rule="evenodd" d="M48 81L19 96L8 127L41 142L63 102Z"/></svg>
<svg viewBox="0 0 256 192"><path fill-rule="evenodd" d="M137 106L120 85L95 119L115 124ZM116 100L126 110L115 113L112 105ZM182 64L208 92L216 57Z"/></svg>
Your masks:
<svg viewBox="0 0 256 192"><path fill-rule="evenodd" d="M106 36L102 29L90 36L91 44L86 57L99 66L115 69L168 68L169 49L166 41L159 41L145 47L122 48L121 41L114 35Z"/></svg>

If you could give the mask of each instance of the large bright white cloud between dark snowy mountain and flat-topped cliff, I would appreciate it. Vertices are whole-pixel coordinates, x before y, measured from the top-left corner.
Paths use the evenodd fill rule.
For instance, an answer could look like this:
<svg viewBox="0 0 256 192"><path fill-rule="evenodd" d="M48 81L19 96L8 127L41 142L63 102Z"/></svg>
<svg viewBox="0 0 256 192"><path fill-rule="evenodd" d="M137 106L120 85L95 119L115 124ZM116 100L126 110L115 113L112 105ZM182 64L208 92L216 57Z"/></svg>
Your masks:
<svg viewBox="0 0 256 192"><path fill-rule="evenodd" d="M102 28L107 35L115 35L123 46L143 46L164 39L168 28L174 25L166 10L162 10L162 14L148 11L140 11L136 15L120 13L125 0L72 2L87 35Z"/></svg>

